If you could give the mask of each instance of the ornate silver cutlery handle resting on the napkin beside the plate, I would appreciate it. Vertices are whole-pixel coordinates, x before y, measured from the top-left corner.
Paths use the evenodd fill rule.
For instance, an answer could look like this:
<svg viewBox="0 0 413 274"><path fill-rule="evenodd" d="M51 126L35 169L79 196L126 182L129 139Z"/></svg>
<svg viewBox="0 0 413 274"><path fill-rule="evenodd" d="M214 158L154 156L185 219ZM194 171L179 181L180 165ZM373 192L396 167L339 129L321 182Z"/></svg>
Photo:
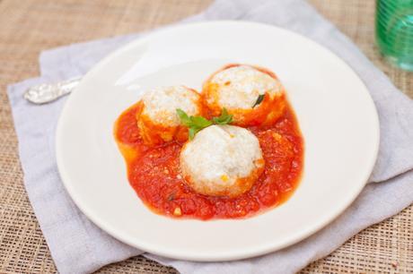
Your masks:
<svg viewBox="0 0 413 274"><path fill-rule="evenodd" d="M24 98L33 104L46 104L75 90L81 80L82 78L78 77L52 84L36 85L24 92Z"/></svg>

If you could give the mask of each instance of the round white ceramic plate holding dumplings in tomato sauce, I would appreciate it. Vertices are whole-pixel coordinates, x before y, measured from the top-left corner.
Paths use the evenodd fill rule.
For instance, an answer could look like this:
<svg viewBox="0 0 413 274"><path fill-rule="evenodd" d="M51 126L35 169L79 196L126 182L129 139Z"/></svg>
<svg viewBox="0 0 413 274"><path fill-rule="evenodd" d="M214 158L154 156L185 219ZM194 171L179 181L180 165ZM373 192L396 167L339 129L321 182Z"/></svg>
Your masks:
<svg viewBox="0 0 413 274"><path fill-rule="evenodd" d="M286 86L305 141L302 182L289 201L254 218L156 215L129 186L113 124L143 90L173 84L200 90L228 63L268 67ZM76 205L120 241L172 258L226 261L275 251L326 226L364 187L378 144L372 98L329 50L276 27L213 21L156 31L87 73L60 117L57 164Z"/></svg>

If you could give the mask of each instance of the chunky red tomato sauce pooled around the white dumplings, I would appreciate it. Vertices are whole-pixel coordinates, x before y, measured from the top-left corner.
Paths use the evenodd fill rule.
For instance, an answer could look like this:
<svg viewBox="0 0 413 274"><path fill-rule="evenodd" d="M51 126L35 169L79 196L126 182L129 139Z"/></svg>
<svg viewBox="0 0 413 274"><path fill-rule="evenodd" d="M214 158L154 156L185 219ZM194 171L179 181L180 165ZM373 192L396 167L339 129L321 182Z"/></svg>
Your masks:
<svg viewBox="0 0 413 274"><path fill-rule="evenodd" d="M138 104L119 116L115 138L127 163L130 185L158 214L204 220L251 217L286 201L299 184L303 137L288 105L275 124L249 128L259 139L266 165L250 191L235 198L206 196L189 188L180 175L182 143L145 146L136 126L137 110Z"/></svg>

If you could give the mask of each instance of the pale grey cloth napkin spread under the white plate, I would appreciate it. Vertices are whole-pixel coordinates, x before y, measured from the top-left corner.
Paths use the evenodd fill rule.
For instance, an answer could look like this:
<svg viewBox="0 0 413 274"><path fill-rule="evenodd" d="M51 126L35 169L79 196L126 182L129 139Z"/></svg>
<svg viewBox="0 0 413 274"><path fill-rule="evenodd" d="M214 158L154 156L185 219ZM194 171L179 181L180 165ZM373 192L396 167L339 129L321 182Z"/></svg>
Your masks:
<svg viewBox="0 0 413 274"><path fill-rule="evenodd" d="M144 253L182 273L293 273L328 255L365 227L413 201L413 101L303 0L218 0L189 21L260 21L301 33L330 48L365 81L381 122L380 153L370 182L356 201L318 233L276 253L242 261L177 261ZM103 56L138 35L59 47L40 56L41 76L9 86L24 184L43 235L61 273L88 273L142 252L107 235L76 208L57 173L55 129L65 98L33 106L22 98L31 85L86 73ZM373 47L373 45L372 45ZM351 106L348 106L351 111Z"/></svg>

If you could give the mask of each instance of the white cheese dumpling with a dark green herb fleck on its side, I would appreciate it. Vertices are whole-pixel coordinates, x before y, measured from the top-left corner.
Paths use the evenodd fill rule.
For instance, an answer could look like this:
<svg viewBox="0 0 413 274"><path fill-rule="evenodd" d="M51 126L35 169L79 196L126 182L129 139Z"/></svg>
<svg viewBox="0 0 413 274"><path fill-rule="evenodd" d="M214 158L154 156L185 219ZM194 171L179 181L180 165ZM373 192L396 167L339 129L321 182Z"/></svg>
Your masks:
<svg viewBox="0 0 413 274"><path fill-rule="evenodd" d="M226 108L233 115L233 124L241 126L275 122L284 112L284 93L276 74L247 64L225 66L202 90L212 116L219 116Z"/></svg>

